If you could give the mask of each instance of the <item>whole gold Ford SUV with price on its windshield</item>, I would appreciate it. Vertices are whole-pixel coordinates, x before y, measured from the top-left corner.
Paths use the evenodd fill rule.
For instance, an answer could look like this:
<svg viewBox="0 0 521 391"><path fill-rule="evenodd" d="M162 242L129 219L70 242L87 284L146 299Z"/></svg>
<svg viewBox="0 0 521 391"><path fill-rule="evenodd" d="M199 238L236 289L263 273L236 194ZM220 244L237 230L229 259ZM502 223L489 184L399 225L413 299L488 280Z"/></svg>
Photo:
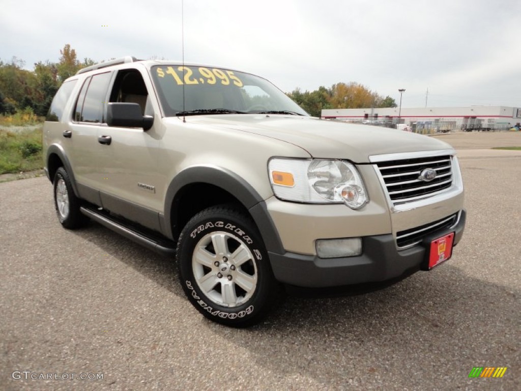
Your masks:
<svg viewBox="0 0 521 391"><path fill-rule="evenodd" d="M309 117L236 70L133 57L84 68L43 139L60 223L92 219L176 258L188 300L230 326L260 321L280 283L430 270L463 235L450 145Z"/></svg>

